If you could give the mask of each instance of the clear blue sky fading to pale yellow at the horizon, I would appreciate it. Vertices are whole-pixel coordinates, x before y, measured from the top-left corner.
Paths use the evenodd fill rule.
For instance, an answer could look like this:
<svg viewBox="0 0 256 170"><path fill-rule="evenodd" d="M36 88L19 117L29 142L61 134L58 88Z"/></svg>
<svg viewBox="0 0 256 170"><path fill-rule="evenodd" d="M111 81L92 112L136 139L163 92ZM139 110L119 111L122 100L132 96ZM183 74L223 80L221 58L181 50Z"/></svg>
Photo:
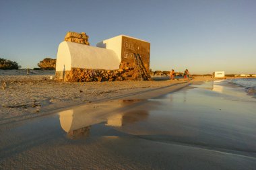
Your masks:
<svg viewBox="0 0 256 170"><path fill-rule="evenodd" d="M0 0L0 58L37 67L68 31L146 40L154 71L256 73L255 0Z"/></svg>

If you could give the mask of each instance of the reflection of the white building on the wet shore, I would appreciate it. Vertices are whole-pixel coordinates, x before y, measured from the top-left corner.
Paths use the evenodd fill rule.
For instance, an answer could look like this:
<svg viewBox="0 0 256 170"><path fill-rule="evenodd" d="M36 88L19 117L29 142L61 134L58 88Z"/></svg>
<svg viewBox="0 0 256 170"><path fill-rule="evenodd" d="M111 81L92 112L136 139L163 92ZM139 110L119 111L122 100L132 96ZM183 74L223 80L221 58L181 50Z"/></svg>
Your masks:
<svg viewBox="0 0 256 170"><path fill-rule="evenodd" d="M101 122L106 122L105 126L121 127L146 118L148 118L148 112L144 110L109 114L104 110L102 112L86 113L86 110L81 109L59 112L61 128L67 132L67 137L71 139L90 136L91 126Z"/></svg>

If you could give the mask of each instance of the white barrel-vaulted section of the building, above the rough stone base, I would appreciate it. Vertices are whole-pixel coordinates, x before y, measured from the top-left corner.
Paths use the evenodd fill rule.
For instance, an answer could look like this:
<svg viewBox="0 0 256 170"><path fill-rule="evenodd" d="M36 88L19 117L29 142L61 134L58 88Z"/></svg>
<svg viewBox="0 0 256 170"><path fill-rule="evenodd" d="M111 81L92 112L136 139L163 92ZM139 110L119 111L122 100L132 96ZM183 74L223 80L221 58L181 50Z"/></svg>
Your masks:
<svg viewBox="0 0 256 170"><path fill-rule="evenodd" d="M75 42L61 42L57 53L56 71L71 71L71 68L119 69L120 56L113 50L86 46Z"/></svg>

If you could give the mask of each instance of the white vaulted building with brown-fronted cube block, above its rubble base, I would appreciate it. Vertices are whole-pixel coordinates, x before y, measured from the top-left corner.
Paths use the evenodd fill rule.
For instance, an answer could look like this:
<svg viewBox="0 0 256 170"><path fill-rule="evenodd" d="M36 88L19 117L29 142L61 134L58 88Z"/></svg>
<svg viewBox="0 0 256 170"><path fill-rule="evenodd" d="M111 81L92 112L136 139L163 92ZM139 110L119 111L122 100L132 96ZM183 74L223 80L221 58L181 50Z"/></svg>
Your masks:
<svg viewBox="0 0 256 170"><path fill-rule="evenodd" d="M76 42L64 41L59 44L58 48L55 79L86 81L87 78L85 76L81 78L77 70L114 71L130 68L125 69L127 74L125 74L122 80L135 80L137 78L133 76L133 73L135 73L137 62L134 54L139 54L139 61L137 59L137 62L143 63L143 78L145 80L149 79L146 74L150 71L149 42L125 35L103 40L97 46L87 46ZM115 78L115 80L117 79ZM108 81L108 79L104 79L104 81Z"/></svg>

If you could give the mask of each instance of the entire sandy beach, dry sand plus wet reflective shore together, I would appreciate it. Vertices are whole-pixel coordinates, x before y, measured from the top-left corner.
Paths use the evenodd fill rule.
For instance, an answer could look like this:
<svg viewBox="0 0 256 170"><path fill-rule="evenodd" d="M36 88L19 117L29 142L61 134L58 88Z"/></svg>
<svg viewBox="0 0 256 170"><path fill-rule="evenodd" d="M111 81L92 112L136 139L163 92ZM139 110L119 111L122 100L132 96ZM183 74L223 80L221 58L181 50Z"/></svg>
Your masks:
<svg viewBox="0 0 256 170"><path fill-rule="evenodd" d="M256 100L226 81L63 83L51 71L8 74L0 76L0 169L256 166Z"/></svg>

